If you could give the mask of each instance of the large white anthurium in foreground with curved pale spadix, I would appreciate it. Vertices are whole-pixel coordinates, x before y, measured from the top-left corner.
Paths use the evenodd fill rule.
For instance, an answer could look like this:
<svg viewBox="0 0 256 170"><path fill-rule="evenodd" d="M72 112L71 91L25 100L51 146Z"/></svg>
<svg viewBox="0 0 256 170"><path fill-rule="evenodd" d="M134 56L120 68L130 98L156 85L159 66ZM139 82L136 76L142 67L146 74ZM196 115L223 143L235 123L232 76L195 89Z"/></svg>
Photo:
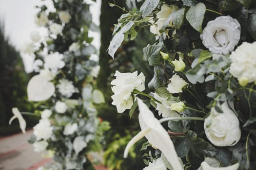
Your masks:
<svg viewBox="0 0 256 170"><path fill-rule="evenodd" d="M124 157L126 158L130 148L143 136L145 136L149 143L154 147L158 148L170 162L174 170L183 170L183 166L179 162L179 158L174 148L174 144L167 134L166 130L159 123L158 119L154 117L154 114L149 110L147 105L142 102L139 98L138 108L139 108L139 125L141 131L134 136L127 144Z"/></svg>

